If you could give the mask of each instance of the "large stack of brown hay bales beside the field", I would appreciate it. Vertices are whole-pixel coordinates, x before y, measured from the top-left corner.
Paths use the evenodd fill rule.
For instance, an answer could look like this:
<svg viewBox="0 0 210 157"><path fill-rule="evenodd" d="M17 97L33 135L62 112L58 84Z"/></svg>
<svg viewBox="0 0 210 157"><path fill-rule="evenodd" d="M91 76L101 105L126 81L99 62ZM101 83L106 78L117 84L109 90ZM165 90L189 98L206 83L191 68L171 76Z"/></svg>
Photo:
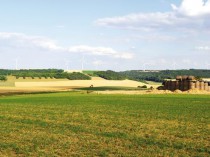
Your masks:
<svg viewBox="0 0 210 157"><path fill-rule="evenodd" d="M176 80L166 80L163 82L164 89L187 91L190 89L210 91L210 82L196 80L194 76L177 76Z"/></svg>

